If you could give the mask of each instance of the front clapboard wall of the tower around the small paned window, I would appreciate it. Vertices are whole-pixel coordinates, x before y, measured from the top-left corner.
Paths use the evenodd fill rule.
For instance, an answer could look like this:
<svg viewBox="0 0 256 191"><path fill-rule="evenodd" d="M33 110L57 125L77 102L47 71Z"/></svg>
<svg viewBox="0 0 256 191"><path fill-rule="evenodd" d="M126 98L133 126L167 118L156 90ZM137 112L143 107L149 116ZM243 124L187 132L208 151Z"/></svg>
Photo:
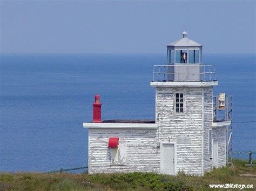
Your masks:
<svg viewBox="0 0 256 191"><path fill-rule="evenodd" d="M174 112L174 93L185 95L185 112ZM177 172L203 174L203 88L156 87L156 121L160 140L177 142ZM179 144L190 138L190 144ZM176 173L177 173L176 172Z"/></svg>

